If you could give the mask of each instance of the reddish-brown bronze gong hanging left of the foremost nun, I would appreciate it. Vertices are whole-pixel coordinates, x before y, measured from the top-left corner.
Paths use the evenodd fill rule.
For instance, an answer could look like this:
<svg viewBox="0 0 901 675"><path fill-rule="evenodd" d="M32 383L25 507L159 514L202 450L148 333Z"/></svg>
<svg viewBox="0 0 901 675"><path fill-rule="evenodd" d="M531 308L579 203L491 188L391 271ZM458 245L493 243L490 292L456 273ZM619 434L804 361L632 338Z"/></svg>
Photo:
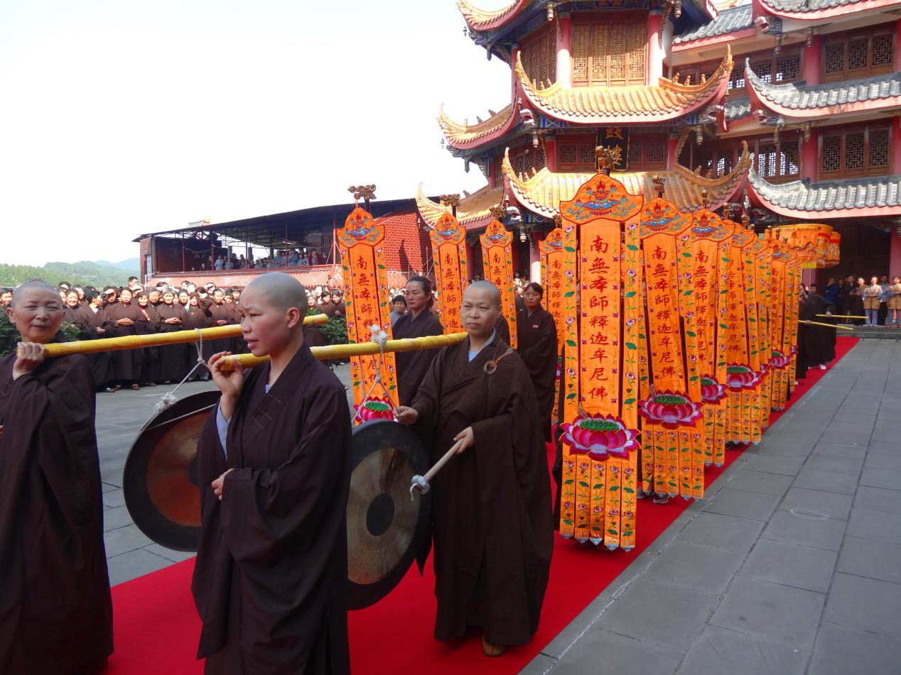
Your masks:
<svg viewBox="0 0 901 675"><path fill-rule="evenodd" d="M196 438L206 417L219 401L219 392L199 392L176 401L167 410L154 415L141 428L132 443L123 471L125 507L132 521L154 543L174 551L196 552L200 541L200 488L188 471L174 471L172 456L162 456L159 444L181 437L185 441ZM196 462L196 440L182 453L190 467ZM183 464L182 464L183 465ZM196 478L195 478L196 480ZM169 500L173 515L168 518L161 508ZM196 509L194 506L196 504ZM196 510L196 513L193 513ZM193 516L193 518L192 518ZM196 523L196 525L194 524Z"/></svg>

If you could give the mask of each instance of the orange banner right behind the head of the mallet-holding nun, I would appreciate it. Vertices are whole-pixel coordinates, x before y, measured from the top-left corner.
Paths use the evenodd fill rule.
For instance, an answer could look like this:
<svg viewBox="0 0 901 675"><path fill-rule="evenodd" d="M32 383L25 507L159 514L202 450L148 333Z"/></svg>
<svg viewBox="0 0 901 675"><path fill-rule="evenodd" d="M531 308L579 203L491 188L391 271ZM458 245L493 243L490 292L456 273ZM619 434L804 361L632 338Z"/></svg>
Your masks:
<svg viewBox="0 0 901 675"><path fill-rule="evenodd" d="M467 284L466 230L451 213L444 213L431 232L432 259L444 332L460 333L460 305ZM511 330L512 332L512 330Z"/></svg>

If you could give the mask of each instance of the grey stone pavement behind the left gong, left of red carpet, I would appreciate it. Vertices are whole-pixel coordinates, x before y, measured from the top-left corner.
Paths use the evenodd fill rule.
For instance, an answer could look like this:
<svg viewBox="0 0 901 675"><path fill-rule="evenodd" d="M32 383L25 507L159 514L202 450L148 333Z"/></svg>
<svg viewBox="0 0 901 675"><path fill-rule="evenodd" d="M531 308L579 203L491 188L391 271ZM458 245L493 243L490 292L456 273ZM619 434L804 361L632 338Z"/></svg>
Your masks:
<svg viewBox="0 0 901 675"><path fill-rule="evenodd" d="M350 386L350 366L339 365L334 372L345 387ZM134 525L125 507L122 491L125 458L134 439L152 416L153 406L160 396L174 388L143 387L140 392L123 389L115 393L97 394L96 431L100 451L100 478L104 489L104 540L112 584L156 572L194 555L172 551L154 544L144 536ZM186 383L178 388L176 396L182 399L189 394L209 389L214 389L213 383ZM352 401L352 392L348 392L348 404Z"/></svg>

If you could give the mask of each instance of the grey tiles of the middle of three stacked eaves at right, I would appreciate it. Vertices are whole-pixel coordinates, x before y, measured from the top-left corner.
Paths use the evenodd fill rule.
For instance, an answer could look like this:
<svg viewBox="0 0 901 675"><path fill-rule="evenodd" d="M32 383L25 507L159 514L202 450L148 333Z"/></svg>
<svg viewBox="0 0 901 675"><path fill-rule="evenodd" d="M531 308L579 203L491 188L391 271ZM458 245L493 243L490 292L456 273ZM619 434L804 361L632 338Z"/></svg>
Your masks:
<svg viewBox="0 0 901 675"><path fill-rule="evenodd" d="M828 105L879 101L901 96L901 73L887 73L828 85L805 85L803 82L770 85L754 74L748 59L745 59L744 64L748 81L762 98L793 110L813 110Z"/></svg>

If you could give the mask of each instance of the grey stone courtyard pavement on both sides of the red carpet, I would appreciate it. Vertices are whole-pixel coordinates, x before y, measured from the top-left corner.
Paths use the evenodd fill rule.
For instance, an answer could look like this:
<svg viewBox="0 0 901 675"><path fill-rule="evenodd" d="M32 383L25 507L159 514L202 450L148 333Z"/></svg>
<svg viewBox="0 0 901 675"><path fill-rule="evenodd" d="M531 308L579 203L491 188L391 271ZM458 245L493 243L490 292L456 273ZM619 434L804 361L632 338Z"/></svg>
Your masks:
<svg viewBox="0 0 901 675"><path fill-rule="evenodd" d="M168 389L97 396L114 584L190 557L143 536L121 489ZM901 673L899 438L901 342L861 340L523 672Z"/></svg>

